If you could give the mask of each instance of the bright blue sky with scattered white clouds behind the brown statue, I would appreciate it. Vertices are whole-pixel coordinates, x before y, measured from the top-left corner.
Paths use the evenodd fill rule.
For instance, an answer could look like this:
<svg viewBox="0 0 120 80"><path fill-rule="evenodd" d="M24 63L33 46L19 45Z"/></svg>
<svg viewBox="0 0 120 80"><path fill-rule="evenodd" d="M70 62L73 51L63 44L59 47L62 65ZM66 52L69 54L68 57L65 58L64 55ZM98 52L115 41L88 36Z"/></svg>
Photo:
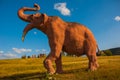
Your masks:
<svg viewBox="0 0 120 80"><path fill-rule="evenodd" d="M18 18L17 11L34 3L40 5L40 13L87 26L100 49L120 47L120 0L0 0L0 59L49 53L47 36L37 29L21 40L28 23Z"/></svg>

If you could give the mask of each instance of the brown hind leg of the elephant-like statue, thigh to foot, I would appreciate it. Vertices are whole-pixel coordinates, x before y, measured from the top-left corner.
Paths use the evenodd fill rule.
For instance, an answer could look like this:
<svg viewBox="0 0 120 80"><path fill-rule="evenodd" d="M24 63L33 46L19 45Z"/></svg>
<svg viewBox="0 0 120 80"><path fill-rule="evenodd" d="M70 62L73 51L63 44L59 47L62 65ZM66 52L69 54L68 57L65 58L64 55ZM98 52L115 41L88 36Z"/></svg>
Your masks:
<svg viewBox="0 0 120 80"><path fill-rule="evenodd" d="M89 63L88 69L91 71L96 70L99 65L97 63L97 56L96 56L96 44L93 41L85 40L84 41L84 52L86 53Z"/></svg>

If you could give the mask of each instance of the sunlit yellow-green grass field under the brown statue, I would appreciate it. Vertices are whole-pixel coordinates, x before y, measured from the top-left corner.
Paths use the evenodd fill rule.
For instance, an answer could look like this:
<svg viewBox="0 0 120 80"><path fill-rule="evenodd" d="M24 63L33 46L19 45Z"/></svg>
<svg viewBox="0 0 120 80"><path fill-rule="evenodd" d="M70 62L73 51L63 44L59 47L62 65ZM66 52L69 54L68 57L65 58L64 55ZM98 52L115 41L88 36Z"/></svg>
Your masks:
<svg viewBox="0 0 120 80"><path fill-rule="evenodd" d="M63 57L63 74L48 76L44 58L0 60L0 80L120 80L120 56L98 57L99 69L86 71L86 57Z"/></svg>

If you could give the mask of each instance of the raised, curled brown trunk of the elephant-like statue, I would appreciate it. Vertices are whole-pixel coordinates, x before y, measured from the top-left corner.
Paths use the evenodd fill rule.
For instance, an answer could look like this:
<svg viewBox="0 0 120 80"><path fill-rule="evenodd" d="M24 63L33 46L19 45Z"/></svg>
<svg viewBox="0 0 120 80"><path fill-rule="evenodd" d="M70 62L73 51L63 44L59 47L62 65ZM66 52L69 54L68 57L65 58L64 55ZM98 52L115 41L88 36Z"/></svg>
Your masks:
<svg viewBox="0 0 120 80"><path fill-rule="evenodd" d="M37 4L34 4L34 8L29 8L29 7L23 7L18 10L18 16L20 19L31 22L32 16L28 14L24 14L24 11L37 11L40 10L40 6Z"/></svg>

